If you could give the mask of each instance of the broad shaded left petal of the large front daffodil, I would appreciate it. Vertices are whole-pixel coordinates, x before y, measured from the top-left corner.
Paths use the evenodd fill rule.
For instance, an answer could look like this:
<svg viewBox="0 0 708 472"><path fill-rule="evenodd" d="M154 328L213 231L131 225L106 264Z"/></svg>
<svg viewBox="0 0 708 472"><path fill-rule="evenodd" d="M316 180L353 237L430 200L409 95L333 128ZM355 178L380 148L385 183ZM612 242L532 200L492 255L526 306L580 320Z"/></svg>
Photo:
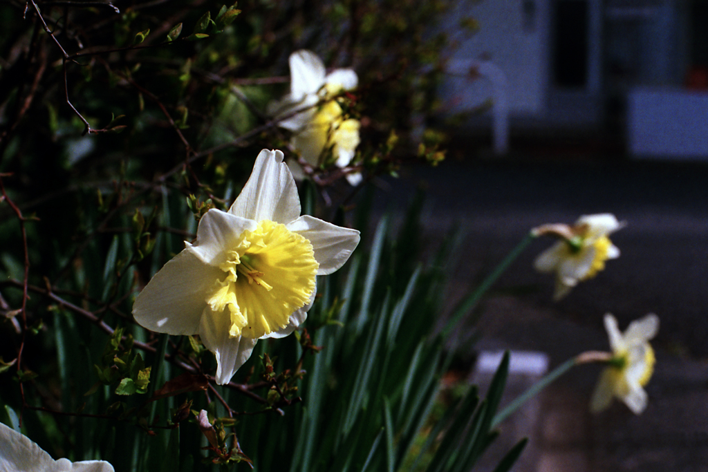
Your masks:
<svg viewBox="0 0 708 472"><path fill-rule="evenodd" d="M185 249L152 277L135 299L133 316L157 333L191 335L207 306L207 290L223 272Z"/></svg>

